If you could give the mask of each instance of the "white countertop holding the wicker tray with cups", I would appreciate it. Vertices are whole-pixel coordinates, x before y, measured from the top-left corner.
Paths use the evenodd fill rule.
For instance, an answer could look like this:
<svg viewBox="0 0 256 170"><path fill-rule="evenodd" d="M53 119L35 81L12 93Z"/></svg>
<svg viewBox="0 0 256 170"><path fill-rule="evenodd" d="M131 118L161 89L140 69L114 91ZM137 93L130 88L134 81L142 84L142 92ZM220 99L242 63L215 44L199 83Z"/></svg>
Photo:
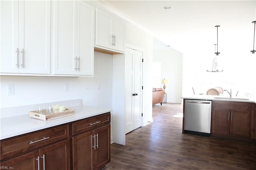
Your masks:
<svg viewBox="0 0 256 170"><path fill-rule="evenodd" d="M28 132L34 132L36 130L41 130L44 128L54 127L57 125L62 125L64 123L70 123L73 121L78 121L80 119L85 119L88 117L93 117L103 113L111 112L112 109L108 108L98 108L98 107L87 107L87 106L76 106L69 107L69 109L75 109L75 115L62 117L58 119L53 119L50 121L42 121L39 119L30 118L28 115L19 115L14 117L6 117L1 119L1 137L0 139L10 138L20 134L25 134Z"/></svg>

